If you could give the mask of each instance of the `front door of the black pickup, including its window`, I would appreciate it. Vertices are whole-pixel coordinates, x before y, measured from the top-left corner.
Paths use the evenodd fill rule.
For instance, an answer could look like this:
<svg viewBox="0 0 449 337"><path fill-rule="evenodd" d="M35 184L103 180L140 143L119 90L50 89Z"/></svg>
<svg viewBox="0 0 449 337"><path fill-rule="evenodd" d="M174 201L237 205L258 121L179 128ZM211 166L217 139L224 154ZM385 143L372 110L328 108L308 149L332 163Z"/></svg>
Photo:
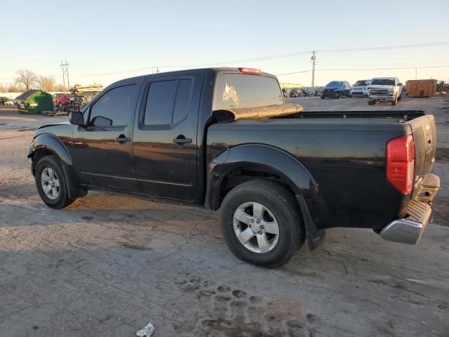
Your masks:
<svg viewBox="0 0 449 337"><path fill-rule="evenodd" d="M73 135L75 169L83 183L139 192L133 165L133 111L136 84L102 93L84 112L86 126Z"/></svg>

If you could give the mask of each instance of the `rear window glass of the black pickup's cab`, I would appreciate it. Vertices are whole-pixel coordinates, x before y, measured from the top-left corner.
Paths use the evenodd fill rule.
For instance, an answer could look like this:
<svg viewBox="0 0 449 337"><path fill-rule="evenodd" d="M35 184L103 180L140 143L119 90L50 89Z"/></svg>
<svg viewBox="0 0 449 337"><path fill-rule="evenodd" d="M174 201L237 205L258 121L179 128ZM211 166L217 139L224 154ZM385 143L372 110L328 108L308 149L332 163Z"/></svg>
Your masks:
<svg viewBox="0 0 449 337"><path fill-rule="evenodd" d="M276 79L249 74L222 74L217 79L213 110L283 104Z"/></svg>

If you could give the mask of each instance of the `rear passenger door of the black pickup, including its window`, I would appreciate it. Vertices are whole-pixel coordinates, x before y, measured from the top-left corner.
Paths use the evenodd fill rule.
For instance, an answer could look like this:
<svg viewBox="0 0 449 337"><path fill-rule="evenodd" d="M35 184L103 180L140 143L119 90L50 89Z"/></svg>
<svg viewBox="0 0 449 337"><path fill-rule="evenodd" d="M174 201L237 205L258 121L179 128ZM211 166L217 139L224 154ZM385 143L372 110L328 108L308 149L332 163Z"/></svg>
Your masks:
<svg viewBox="0 0 449 337"><path fill-rule="evenodd" d="M198 188L197 127L203 74L149 79L134 126L140 191L193 201Z"/></svg>

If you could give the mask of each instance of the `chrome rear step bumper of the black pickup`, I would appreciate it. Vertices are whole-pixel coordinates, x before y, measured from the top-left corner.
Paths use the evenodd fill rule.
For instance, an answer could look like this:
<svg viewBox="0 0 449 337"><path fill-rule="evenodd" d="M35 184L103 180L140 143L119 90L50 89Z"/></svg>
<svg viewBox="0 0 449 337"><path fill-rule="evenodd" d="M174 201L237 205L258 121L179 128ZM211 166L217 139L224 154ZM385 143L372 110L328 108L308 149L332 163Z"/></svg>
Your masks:
<svg viewBox="0 0 449 337"><path fill-rule="evenodd" d="M428 174L417 191L417 199L410 202L406 218L391 221L380 232L387 241L417 244L431 219L431 201L440 187L440 178Z"/></svg>

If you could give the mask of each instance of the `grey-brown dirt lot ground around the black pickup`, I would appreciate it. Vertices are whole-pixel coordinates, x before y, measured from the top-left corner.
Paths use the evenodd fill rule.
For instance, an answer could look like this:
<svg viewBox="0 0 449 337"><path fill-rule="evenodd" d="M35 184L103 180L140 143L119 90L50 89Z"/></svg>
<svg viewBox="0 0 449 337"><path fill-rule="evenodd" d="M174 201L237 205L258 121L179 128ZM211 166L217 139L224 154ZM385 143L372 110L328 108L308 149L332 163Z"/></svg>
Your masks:
<svg viewBox="0 0 449 337"><path fill-rule="evenodd" d="M443 185L420 244L328 230L279 270L236 260L217 214L89 193L44 206L25 158L65 117L0 107L0 336L449 336L449 103L300 98L306 110L422 109L437 121Z"/></svg>

